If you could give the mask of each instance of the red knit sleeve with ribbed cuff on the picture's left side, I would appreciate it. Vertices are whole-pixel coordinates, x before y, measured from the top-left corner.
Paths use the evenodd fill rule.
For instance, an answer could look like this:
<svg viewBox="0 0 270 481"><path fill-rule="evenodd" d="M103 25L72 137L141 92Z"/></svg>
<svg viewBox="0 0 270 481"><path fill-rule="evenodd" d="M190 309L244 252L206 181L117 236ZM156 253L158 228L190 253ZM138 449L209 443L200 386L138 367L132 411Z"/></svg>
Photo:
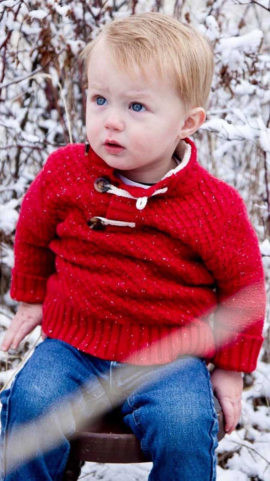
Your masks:
<svg viewBox="0 0 270 481"><path fill-rule="evenodd" d="M26 191L16 225L10 295L30 304L43 303L47 280L55 272L49 242L56 235L56 218L47 209L45 189L52 155Z"/></svg>

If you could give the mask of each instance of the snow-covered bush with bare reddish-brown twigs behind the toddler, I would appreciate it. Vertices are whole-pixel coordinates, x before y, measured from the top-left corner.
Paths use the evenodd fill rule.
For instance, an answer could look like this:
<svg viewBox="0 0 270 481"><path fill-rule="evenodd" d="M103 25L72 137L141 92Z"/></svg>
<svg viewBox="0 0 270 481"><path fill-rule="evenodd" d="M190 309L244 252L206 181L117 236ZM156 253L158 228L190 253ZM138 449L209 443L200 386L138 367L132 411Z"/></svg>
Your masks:
<svg viewBox="0 0 270 481"><path fill-rule="evenodd" d="M207 119L193 138L199 162L245 200L260 241L269 293L269 1L4 0L0 2L0 341L17 309L9 286L22 198L50 152L85 140L86 78L75 63L77 55L104 22L149 10L174 13L213 43L216 66ZM0 353L0 386L38 334L35 330L28 336L8 360ZM243 415L238 429L218 448L220 480L228 468L232 477L226 479L270 479L270 459L264 449L270 442L269 303L264 336L258 369L245 379L246 384L253 381L252 390L243 396L246 422ZM260 384L264 391L258 393ZM135 471L130 476L136 479Z"/></svg>

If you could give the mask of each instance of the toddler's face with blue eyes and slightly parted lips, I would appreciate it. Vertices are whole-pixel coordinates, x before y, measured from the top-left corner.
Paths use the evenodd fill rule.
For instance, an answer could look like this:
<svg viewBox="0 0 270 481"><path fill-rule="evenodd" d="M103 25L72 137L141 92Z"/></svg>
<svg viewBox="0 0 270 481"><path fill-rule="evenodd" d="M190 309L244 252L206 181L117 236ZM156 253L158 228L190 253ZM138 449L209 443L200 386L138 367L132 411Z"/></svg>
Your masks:
<svg viewBox="0 0 270 481"><path fill-rule="evenodd" d="M96 47L88 66L87 139L94 152L123 175L157 182L176 166L172 154L183 138L182 102L169 83L153 74L148 76L150 87L137 70L136 84L109 62L100 45ZM109 151L106 139L124 149Z"/></svg>

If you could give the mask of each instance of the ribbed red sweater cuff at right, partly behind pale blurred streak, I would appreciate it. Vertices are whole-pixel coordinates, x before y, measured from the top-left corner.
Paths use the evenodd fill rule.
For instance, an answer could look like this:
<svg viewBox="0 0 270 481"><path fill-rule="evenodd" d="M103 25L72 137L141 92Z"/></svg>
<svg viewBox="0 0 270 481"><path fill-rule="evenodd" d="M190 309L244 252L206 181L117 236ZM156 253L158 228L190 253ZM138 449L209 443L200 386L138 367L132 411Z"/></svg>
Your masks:
<svg viewBox="0 0 270 481"><path fill-rule="evenodd" d="M252 372L256 369L260 348L264 341L262 336L254 337L245 333L236 333L225 329L214 332L217 348L216 354L209 361L222 369Z"/></svg>

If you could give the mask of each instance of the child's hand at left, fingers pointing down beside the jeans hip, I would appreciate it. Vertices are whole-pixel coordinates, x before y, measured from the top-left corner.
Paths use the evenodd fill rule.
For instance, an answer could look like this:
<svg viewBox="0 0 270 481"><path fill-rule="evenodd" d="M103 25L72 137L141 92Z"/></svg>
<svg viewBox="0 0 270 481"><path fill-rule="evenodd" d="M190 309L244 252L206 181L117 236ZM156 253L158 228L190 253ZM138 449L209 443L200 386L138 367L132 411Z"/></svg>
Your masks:
<svg viewBox="0 0 270 481"><path fill-rule="evenodd" d="M11 325L7 329L3 342L0 346L2 351L8 351L12 344L12 349L16 349L19 343L42 321L42 304L21 303ZM42 331L43 332L43 331ZM42 334L44 339L45 334Z"/></svg>

